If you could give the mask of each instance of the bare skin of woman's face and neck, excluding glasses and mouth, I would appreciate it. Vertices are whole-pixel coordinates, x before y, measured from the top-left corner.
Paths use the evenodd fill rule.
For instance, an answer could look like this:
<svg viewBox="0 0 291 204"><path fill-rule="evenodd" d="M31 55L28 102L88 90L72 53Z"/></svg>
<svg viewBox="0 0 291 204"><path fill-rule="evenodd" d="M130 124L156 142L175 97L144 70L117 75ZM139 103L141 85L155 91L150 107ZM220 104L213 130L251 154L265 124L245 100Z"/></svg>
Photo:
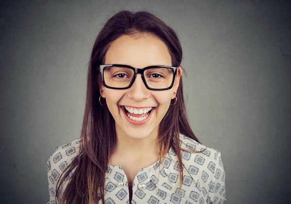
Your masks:
<svg viewBox="0 0 291 204"><path fill-rule="evenodd" d="M107 51L105 64L123 64L135 68L151 65L172 66L166 45L150 34L120 36L113 41ZM106 99L115 120L117 148L111 159L113 166L130 162L139 168L153 164L157 160L159 146L156 139L159 124L170 106L171 99L175 98L173 92L177 92L181 73L182 69L179 68L173 87L163 91L148 90L141 74L137 74L135 82L129 89L115 90L100 86L100 94ZM137 108L155 107L155 110L145 124L134 125L125 118L121 105Z"/></svg>

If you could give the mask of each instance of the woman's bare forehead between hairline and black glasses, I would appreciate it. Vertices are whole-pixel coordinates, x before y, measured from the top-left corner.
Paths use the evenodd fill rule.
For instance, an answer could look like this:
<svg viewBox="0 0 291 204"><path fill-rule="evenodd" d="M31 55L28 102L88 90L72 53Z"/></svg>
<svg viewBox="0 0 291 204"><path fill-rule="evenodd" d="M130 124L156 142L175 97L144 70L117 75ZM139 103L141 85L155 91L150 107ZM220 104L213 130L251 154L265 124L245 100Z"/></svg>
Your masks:
<svg viewBox="0 0 291 204"><path fill-rule="evenodd" d="M107 51L105 64L144 68L151 65L172 66L172 61L167 46L158 37L150 34L138 37L121 35Z"/></svg>

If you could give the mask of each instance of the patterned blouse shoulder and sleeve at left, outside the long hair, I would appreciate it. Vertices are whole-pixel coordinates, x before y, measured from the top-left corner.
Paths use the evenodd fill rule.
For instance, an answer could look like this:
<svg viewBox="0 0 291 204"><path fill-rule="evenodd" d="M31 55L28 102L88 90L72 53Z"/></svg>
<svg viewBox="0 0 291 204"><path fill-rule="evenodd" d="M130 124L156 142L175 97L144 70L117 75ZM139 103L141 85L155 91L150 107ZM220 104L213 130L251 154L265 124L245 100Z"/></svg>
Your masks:
<svg viewBox="0 0 291 204"><path fill-rule="evenodd" d="M56 195L56 185L66 167L78 156L80 138L56 147L49 155L47 172L49 180L50 201Z"/></svg>

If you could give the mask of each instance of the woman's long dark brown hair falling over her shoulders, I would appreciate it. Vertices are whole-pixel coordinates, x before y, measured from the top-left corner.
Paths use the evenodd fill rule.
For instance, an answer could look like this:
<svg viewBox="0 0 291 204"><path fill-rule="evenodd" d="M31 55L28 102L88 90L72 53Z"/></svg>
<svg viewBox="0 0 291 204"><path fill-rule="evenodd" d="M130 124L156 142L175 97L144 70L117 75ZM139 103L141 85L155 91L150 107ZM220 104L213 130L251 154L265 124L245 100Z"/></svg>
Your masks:
<svg viewBox="0 0 291 204"><path fill-rule="evenodd" d="M102 84L98 66L104 64L105 54L111 43L120 35L153 34L167 46L172 66L182 61L182 47L175 31L161 19L147 11L123 10L111 17L95 40L87 75L87 93L78 156L68 165L57 183L57 200L61 204L97 204L104 202L105 174L109 158L116 147L114 119L107 105L99 103L99 87ZM185 73L184 68L183 72ZM172 147L178 156L178 165L183 167L179 134L188 136L198 143L186 114L183 97L183 83L180 77L177 102L170 105L159 125L158 142L161 158ZM201 151L200 151L201 152ZM180 188L183 168L180 170ZM65 181L65 190L60 187Z"/></svg>

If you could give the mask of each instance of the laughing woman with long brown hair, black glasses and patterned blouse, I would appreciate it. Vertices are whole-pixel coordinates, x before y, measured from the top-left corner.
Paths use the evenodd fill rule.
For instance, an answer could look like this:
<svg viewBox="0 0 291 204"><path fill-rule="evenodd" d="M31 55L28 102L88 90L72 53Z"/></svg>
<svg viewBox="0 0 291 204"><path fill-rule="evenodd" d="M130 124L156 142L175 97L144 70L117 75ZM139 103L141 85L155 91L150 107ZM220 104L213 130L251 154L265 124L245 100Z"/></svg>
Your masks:
<svg viewBox="0 0 291 204"><path fill-rule="evenodd" d="M177 34L148 12L121 11L90 58L81 137L48 160L50 204L225 201L219 151L200 144L183 98Z"/></svg>

